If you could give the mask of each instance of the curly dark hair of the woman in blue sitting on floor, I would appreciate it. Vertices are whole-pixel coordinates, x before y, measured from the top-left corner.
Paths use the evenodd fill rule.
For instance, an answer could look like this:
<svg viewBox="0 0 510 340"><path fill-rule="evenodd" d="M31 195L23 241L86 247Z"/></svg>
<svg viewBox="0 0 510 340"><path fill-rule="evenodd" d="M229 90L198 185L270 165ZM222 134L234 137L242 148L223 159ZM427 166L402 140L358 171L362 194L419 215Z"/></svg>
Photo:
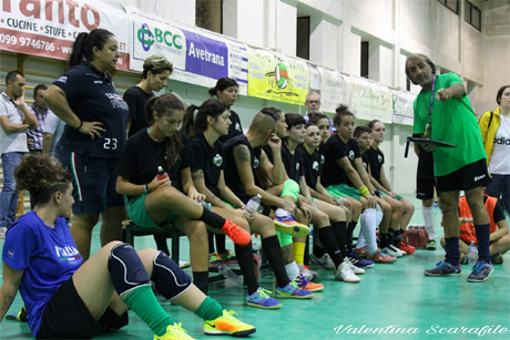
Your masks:
<svg viewBox="0 0 510 340"><path fill-rule="evenodd" d="M14 171L20 190L28 190L34 204L47 204L57 192L64 192L71 184L71 175L62 164L48 155L28 154Z"/></svg>

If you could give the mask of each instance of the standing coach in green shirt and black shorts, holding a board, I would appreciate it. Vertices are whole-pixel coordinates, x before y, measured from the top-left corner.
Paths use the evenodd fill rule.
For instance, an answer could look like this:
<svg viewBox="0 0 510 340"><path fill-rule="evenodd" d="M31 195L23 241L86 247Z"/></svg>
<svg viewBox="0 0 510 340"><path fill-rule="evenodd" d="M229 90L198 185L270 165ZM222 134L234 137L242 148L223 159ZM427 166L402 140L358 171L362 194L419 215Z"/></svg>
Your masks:
<svg viewBox="0 0 510 340"><path fill-rule="evenodd" d="M443 213L446 257L427 276L460 276L459 190L466 192L479 246L479 260L468 277L482 282L492 272L489 216L483 205L483 186L490 183L486 153L477 117L461 79L455 73L436 74L436 65L422 54L406 60L406 74L421 86L415 100L414 135L457 145L456 148L424 145L434 152L439 206Z"/></svg>

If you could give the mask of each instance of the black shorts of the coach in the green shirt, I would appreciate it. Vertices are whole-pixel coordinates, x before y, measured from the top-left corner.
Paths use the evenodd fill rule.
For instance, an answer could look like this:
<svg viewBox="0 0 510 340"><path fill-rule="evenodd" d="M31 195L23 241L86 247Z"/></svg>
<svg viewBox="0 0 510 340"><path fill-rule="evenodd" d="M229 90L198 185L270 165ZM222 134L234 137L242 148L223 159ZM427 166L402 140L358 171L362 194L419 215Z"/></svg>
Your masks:
<svg viewBox="0 0 510 340"><path fill-rule="evenodd" d="M470 190L490 184L484 158L462 166L448 175L436 178L438 193Z"/></svg>

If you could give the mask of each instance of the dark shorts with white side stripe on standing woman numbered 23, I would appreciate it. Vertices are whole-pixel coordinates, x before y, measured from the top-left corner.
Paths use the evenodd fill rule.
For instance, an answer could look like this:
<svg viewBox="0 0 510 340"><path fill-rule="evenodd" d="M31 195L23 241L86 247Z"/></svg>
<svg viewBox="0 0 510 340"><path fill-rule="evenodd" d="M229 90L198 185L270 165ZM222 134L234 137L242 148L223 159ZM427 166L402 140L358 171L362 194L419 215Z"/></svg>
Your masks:
<svg viewBox="0 0 510 340"><path fill-rule="evenodd" d="M73 214L100 214L109 207L125 206L123 195L115 189L119 158L79 155L61 146L62 165L73 178Z"/></svg>

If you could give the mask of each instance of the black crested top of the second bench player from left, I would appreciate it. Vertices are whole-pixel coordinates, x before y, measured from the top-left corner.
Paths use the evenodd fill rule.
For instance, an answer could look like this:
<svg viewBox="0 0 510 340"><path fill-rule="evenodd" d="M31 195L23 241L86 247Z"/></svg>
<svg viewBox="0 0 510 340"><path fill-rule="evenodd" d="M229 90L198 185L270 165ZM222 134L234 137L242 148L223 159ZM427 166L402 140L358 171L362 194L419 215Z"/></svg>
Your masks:
<svg viewBox="0 0 510 340"><path fill-rule="evenodd" d="M211 147L205 140L204 133L200 133L192 140L193 148L193 166L192 171L203 171L205 186L217 197L220 197L220 189L217 183L222 171L226 167L225 162L225 147L223 143L216 141Z"/></svg>

